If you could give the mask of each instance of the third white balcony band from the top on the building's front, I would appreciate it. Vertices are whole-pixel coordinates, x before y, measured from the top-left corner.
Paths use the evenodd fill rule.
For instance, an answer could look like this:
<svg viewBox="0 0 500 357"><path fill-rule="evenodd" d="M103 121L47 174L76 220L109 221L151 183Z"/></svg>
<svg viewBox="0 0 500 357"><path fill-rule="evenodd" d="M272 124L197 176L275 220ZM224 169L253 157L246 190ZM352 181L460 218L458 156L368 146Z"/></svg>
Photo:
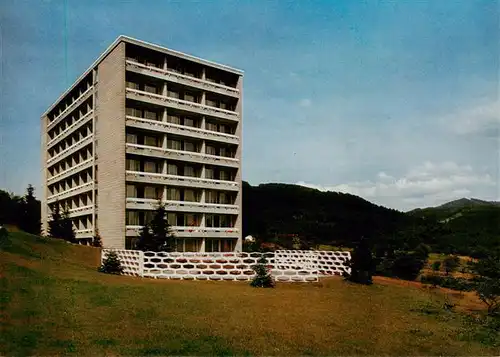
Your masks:
<svg viewBox="0 0 500 357"><path fill-rule="evenodd" d="M196 139L219 141L227 144L239 144L239 138L236 135L219 133L217 131L194 128L191 126L172 124L164 121L138 118L130 115L127 115L126 119L127 126L131 126L134 128L189 136Z"/></svg>

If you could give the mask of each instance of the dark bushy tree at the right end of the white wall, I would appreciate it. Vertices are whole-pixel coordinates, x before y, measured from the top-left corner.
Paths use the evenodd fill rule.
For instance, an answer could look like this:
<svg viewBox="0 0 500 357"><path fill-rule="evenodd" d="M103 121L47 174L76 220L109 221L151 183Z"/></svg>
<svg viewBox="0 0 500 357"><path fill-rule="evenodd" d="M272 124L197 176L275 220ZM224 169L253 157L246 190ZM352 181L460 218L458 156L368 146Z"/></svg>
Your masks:
<svg viewBox="0 0 500 357"><path fill-rule="evenodd" d="M371 239L361 237L351 253L351 259L346 264L351 269L350 272L344 272L344 277L347 280L365 285L373 283L372 276L375 272L375 260L372 249L373 243Z"/></svg>

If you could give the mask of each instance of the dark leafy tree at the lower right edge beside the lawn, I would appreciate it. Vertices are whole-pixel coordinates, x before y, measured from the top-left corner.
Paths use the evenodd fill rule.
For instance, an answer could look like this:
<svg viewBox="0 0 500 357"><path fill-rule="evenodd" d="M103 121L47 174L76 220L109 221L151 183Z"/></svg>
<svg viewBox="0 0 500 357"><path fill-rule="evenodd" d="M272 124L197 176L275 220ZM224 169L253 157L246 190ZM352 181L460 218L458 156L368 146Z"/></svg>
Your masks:
<svg viewBox="0 0 500 357"><path fill-rule="evenodd" d="M500 314L500 248L490 251L487 257L471 263L477 276L476 293L488 307L490 315Z"/></svg>

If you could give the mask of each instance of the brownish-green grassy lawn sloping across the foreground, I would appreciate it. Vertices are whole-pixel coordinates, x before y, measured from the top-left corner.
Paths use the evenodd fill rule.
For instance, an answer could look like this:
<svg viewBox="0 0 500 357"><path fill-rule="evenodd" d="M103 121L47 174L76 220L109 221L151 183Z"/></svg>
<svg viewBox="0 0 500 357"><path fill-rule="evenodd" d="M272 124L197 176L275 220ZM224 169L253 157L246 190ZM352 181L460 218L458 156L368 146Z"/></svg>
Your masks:
<svg viewBox="0 0 500 357"><path fill-rule="evenodd" d="M255 289L96 271L99 250L11 233L1 243L0 355L498 355L471 338L473 297L378 279ZM472 300L471 300L472 299Z"/></svg>

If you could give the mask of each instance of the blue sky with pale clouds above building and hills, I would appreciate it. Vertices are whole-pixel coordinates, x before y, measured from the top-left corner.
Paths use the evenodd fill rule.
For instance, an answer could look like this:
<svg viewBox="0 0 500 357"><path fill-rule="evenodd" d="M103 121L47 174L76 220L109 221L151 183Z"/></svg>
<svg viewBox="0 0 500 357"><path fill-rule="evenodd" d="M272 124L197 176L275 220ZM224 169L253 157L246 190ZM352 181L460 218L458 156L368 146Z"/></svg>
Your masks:
<svg viewBox="0 0 500 357"><path fill-rule="evenodd" d="M39 117L120 34L245 71L243 178L396 209L497 200L495 1L0 4L0 188L40 186Z"/></svg>

